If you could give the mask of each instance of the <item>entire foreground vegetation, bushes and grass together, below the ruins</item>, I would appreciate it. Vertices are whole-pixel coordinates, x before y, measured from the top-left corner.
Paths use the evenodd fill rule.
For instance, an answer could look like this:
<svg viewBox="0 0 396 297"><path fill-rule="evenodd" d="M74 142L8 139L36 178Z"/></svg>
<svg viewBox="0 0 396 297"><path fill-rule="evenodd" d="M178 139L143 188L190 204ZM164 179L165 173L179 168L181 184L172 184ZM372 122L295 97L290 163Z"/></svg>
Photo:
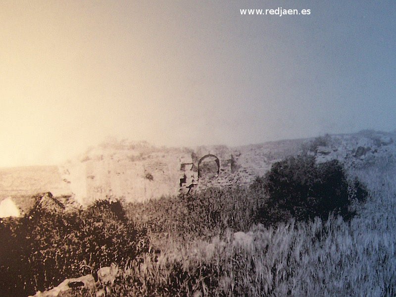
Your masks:
<svg viewBox="0 0 396 297"><path fill-rule="evenodd" d="M353 175L303 154L249 187L36 208L0 225L0 286L23 296L115 262L109 296L395 296L396 175Z"/></svg>

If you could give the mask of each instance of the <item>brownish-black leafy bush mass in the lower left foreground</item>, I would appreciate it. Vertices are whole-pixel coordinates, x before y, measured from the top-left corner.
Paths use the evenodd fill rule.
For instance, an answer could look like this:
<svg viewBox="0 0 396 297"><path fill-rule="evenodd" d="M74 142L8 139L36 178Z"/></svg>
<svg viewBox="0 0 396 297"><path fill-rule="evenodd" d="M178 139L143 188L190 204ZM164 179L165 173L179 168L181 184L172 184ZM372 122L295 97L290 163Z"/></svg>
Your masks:
<svg viewBox="0 0 396 297"><path fill-rule="evenodd" d="M126 265L148 249L144 231L129 221L119 201L98 201L86 210L56 213L40 204L0 225L2 296L33 295L109 266Z"/></svg>

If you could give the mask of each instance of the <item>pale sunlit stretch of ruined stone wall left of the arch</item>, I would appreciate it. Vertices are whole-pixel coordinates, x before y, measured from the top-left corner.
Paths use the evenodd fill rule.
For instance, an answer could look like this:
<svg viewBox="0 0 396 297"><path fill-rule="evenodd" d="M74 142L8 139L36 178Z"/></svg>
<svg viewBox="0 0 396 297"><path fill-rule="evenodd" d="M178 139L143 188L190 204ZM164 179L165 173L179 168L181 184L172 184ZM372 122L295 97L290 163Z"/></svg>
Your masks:
<svg viewBox="0 0 396 297"><path fill-rule="evenodd" d="M99 155L91 155L81 162L80 172L85 172L86 191L80 191L80 195L85 197L77 198L82 204L89 204L97 199L123 198L126 201L143 202L177 195L181 178L180 164L186 161L191 162L191 155L183 150L165 149L149 153L101 151ZM72 175L66 179L73 179Z"/></svg>

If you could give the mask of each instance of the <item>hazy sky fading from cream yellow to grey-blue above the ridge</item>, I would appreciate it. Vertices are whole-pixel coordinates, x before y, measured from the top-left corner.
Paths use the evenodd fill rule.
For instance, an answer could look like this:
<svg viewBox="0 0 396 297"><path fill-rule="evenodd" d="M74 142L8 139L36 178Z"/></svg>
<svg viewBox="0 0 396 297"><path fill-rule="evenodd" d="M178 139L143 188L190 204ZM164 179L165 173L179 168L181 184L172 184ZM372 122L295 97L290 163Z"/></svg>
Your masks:
<svg viewBox="0 0 396 297"><path fill-rule="evenodd" d="M265 14L278 7L300 14ZM394 0L2 0L0 24L0 166L59 164L109 137L396 129Z"/></svg>

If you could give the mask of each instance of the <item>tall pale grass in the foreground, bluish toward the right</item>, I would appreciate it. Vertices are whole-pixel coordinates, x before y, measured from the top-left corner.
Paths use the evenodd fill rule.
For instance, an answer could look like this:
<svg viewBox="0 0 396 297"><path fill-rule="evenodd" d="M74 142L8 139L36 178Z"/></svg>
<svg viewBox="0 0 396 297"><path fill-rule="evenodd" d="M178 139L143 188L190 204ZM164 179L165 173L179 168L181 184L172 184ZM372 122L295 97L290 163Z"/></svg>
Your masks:
<svg viewBox="0 0 396 297"><path fill-rule="evenodd" d="M200 239L167 234L124 270L115 296L127 283L131 296L395 296L395 171L350 174L370 192L350 221L259 224L238 237L230 228Z"/></svg>

